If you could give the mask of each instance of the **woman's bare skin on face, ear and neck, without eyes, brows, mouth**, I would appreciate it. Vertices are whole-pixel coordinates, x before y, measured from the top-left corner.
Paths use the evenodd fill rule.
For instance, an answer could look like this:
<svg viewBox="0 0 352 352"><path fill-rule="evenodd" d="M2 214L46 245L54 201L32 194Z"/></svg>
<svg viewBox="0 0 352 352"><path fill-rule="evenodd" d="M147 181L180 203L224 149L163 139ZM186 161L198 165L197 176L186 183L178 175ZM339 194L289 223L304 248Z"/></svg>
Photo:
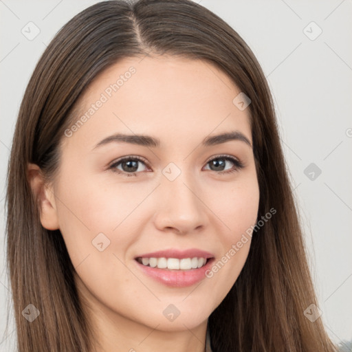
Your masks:
<svg viewBox="0 0 352 352"><path fill-rule="evenodd" d="M199 248L217 261L256 223L259 185L252 147L240 140L201 146L208 135L240 131L252 143L248 109L233 103L239 89L219 69L175 56L125 58L89 86L78 101L84 114L116 77L136 72L71 137L63 136L61 164L44 184L30 164L32 188L41 195L41 223L60 229L76 268L80 298L98 331L96 351L203 352L208 317L239 276L250 241L212 278L190 287L167 287L137 267L135 256L157 250ZM113 114L115 113L115 115ZM113 133L159 138L159 148L111 142ZM245 165L234 173L209 162L218 155ZM140 156L135 177L126 165L109 164ZM180 175L170 181L162 170L173 162ZM215 191L216 190L216 191ZM92 241L110 240L102 252ZM173 304L172 322L164 309Z"/></svg>

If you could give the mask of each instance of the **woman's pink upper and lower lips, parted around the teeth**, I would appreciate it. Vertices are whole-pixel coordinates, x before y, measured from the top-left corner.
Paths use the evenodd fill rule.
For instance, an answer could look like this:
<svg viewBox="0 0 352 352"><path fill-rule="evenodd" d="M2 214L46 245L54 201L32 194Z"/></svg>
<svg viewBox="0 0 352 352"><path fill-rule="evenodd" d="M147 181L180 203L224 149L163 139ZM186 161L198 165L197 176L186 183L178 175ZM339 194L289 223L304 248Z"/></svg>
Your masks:
<svg viewBox="0 0 352 352"><path fill-rule="evenodd" d="M143 265L137 261L137 258L206 258L208 259L206 265L199 267L197 269L190 270L168 270L159 269L158 267L149 267ZM153 253L141 254L135 257L135 263L142 270L144 274L150 276L155 281L162 283L170 287L188 287L195 285L199 281L206 278L206 271L210 269L212 263L214 262L214 255L210 252L205 252L203 250L190 249L190 250L161 250Z"/></svg>

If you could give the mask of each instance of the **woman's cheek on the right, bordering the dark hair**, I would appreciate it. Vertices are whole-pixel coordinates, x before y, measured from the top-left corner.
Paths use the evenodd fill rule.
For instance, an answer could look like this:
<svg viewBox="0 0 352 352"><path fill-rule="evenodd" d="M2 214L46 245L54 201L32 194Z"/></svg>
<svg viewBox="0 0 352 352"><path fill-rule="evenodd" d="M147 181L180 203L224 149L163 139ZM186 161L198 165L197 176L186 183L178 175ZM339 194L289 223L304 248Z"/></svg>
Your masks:
<svg viewBox="0 0 352 352"><path fill-rule="evenodd" d="M236 282L250 251L259 210L259 185L256 178L247 178L231 188L228 184L219 185L217 194L221 197L212 202L212 208L217 209L217 223L223 228L218 232L222 252L206 276L216 283L212 289L214 298L223 299Z"/></svg>

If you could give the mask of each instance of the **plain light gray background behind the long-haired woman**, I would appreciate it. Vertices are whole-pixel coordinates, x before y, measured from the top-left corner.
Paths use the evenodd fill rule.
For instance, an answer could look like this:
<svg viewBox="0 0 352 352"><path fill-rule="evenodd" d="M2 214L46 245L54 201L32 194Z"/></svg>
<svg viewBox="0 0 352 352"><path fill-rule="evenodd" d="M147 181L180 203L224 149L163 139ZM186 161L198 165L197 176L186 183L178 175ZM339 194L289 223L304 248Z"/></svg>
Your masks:
<svg viewBox="0 0 352 352"><path fill-rule="evenodd" d="M5 271L3 198L19 104L39 56L54 34L76 13L96 2L0 0L0 351L14 351L13 319L5 331L10 292ZM345 340L347 348L346 340L352 338L352 1L199 3L239 32L267 76L296 187L322 320L333 341ZM30 31L30 21L40 30L33 40L21 33L23 28ZM315 38L319 28L322 33ZM34 34L34 30L32 27L30 32ZM309 178L313 174L307 177L304 173L311 163L322 170L314 179Z"/></svg>

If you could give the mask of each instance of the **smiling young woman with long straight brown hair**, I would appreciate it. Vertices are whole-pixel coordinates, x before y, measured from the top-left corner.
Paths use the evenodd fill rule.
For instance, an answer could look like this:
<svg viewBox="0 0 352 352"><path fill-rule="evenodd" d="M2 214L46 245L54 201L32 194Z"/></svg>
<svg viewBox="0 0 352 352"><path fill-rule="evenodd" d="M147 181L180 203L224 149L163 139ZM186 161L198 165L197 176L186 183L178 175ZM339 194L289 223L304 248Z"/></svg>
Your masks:
<svg viewBox="0 0 352 352"><path fill-rule="evenodd" d="M58 32L6 201L19 352L336 351L265 76L197 3L101 2Z"/></svg>

